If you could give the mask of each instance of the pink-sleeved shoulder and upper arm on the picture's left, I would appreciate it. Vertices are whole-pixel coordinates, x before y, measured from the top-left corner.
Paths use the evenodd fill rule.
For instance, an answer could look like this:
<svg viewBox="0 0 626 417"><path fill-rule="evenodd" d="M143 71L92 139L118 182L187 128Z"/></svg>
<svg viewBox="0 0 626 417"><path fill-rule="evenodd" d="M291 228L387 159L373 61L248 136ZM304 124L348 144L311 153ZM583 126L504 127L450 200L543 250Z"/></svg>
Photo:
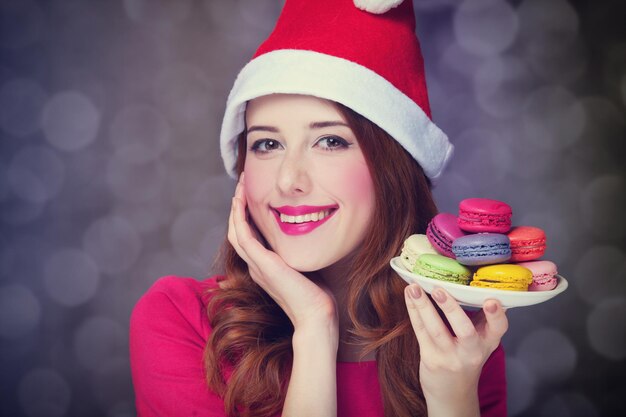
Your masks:
<svg viewBox="0 0 626 417"><path fill-rule="evenodd" d="M224 416L206 383L203 353L210 334L206 303L218 277L168 276L137 301L130 320L130 365L137 414Z"/></svg>

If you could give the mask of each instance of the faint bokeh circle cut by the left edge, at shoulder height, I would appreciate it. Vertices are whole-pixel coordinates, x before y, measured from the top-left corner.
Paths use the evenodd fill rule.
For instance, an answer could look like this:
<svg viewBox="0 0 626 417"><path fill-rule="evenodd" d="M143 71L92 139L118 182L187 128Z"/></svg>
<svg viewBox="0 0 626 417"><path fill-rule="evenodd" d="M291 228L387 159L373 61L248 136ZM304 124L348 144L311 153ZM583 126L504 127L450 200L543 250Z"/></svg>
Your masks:
<svg viewBox="0 0 626 417"><path fill-rule="evenodd" d="M37 327L41 304L27 287L7 284L0 287L0 337L17 339Z"/></svg>

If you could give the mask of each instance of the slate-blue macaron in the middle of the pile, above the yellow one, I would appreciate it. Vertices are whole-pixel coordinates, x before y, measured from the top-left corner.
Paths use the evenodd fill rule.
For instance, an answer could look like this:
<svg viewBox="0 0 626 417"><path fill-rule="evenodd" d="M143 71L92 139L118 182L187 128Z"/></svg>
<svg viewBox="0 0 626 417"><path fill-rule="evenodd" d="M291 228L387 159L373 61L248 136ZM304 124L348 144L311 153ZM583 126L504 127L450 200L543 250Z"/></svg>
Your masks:
<svg viewBox="0 0 626 417"><path fill-rule="evenodd" d="M475 233L455 239L452 252L463 265L506 262L511 257L509 238L501 233Z"/></svg>

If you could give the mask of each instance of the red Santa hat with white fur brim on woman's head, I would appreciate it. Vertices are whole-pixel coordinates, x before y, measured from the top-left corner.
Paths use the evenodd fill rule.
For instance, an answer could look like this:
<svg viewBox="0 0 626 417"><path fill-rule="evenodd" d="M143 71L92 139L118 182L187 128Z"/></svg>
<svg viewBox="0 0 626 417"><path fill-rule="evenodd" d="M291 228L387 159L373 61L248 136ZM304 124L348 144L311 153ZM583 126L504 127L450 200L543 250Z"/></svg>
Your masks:
<svg viewBox="0 0 626 417"><path fill-rule="evenodd" d="M228 97L220 145L236 178L248 100L305 94L341 103L398 141L437 180L454 147L431 120L411 0L286 0Z"/></svg>

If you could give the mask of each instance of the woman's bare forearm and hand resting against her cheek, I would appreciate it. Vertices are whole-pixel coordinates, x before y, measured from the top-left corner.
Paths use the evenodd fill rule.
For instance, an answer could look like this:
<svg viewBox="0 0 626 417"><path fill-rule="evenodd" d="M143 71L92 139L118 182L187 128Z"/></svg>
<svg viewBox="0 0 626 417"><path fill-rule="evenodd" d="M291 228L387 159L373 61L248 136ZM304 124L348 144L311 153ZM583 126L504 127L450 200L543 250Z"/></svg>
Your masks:
<svg viewBox="0 0 626 417"><path fill-rule="evenodd" d="M335 298L259 242L246 220L243 181L241 174L228 220L228 241L248 264L252 279L294 326L294 357L282 416L336 416L339 319Z"/></svg>

